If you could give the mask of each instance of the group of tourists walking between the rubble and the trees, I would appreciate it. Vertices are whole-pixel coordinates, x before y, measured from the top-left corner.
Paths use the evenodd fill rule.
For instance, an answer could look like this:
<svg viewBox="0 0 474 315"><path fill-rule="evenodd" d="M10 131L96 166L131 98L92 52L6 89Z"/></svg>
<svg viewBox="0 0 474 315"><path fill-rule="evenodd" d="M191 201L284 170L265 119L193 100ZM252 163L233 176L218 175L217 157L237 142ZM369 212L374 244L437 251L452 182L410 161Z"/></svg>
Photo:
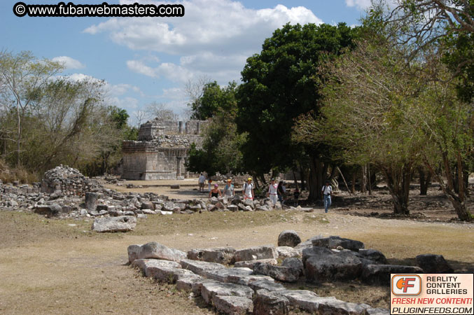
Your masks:
<svg viewBox="0 0 474 315"><path fill-rule="evenodd" d="M204 192L204 183L206 178L201 173L197 182L199 183L199 190L200 192ZM250 199L253 200L255 193L253 193L253 189L255 188L252 178L249 177L244 183L242 187L242 195L244 196L244 200ZM208 191L209 191L209 198L211 197L234 197L235 196L235 188L232 184L232 179L228 179L227 183L225 184L223 193L219 189L218 184L212 184L212 180L209 179L208 181ZM284 196L286 195L286 187L284 181L279 181L276 183L275 179L270 180L270 186L268 186L267 197L270 197L270 202L272 203L272 207L275 207L277 202L281 202L284 204ZM298 188L295 190L295 200L298 200L300 192ZM328 209L331 205L331 197L333 196L333 188L330 186L330 181L326 181L326 184L321 189L321 195L323 195L323 203L324 203L324 211L327 213Z"/></svg>

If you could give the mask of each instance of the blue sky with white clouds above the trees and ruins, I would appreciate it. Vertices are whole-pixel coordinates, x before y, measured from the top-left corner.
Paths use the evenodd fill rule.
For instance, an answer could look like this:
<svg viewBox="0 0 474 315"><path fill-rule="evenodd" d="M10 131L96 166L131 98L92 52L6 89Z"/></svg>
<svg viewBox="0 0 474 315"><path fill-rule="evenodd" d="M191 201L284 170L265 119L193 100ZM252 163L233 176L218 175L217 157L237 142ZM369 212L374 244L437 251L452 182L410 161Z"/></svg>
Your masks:
<svg viewBox="0 0 474 315"><path fill-rule="evenodd" d="M109 0L109 4L182 4L185 15L20 18L13 14L16 2L0 1L0 50L14 54L29 50L36 57L61 62L62 75L72 80L104 80L108 102L126 109L132 124L151 102L186 116L188 82L205 77L220 85L239 83L246 58L260 52L265 38L287 22L358 25L370 5L370 0Z"/></svg>

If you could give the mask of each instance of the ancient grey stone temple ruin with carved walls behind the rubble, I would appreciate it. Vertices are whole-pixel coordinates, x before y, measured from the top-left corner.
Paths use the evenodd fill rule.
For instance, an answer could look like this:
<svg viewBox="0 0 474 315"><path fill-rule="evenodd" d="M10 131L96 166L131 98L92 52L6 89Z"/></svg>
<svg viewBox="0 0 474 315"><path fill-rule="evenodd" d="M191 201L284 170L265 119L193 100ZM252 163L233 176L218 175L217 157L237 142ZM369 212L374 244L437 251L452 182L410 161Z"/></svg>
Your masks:
<svg viewBox="0 0 474 315"><path fill-rule="evenodd" d="M123 141L122 178L132 180L180 179L188 176L186 162L191 144L199 148L202 120L148 121L140 126L138 141Z"/></svg>

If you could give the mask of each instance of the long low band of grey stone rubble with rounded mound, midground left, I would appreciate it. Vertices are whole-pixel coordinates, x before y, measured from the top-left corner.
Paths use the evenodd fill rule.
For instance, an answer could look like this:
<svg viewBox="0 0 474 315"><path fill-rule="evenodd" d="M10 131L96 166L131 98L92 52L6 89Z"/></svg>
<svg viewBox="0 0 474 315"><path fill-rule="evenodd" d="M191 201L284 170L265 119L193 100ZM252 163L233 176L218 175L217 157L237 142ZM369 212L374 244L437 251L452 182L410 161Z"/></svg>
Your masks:
<svg viewBox="0 0 474 315"><path fill-rule="evenodd" d="M33 211L49 218L100 218L92 230L101 232L133 230L136 221L122 218L124 216L144 219L155 214L272 210L268 198L243 201L237 196L232 199L214 197L205 201L169 200L167 196L153 193L119 193L100 186L97 179L89 179L77 169L63 166L50 169L41 183L32 186L0 183L0 207ZM276 209L281 209L281 204L277 203ZM300 207L292 209L312 211ZM126 228L122 226L125 223Z"/></svg>

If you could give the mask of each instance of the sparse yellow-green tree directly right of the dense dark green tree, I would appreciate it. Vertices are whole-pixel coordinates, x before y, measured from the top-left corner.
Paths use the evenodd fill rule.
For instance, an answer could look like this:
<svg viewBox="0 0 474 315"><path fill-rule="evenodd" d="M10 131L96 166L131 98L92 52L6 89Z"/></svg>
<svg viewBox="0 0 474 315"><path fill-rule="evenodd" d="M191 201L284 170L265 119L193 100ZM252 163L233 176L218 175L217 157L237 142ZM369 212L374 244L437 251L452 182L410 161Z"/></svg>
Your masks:
<svg viewBox="0 0 474 315"><path fill-rule="evenodd" d="M407 127L419 81L404 66L390 42L360 41L321 68L326 77L321 118L302 116L294 128L296 141L326 143L347 164L376 165L396 214L410 213L410 178L419 155L419 139Z"/></svg>

